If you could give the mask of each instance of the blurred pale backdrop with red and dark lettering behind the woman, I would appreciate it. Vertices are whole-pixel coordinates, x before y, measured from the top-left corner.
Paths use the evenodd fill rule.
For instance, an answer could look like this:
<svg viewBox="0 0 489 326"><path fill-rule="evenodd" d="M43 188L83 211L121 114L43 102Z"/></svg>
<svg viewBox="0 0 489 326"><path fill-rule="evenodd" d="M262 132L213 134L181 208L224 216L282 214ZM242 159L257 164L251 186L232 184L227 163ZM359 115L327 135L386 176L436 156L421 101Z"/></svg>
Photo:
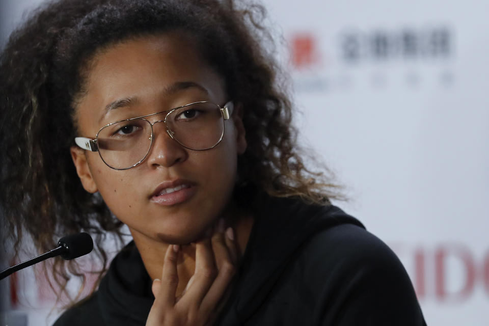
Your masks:
<svg viewBox="0 0 489 326"><path fill-rule="evenodd" d="M39 3L2 0L2 45ZM336 204L396 252L428 325L487 325L489 2L263 4L300 141L346 186ZM9 325L60 313L33 269L0 284Z"/></svg>

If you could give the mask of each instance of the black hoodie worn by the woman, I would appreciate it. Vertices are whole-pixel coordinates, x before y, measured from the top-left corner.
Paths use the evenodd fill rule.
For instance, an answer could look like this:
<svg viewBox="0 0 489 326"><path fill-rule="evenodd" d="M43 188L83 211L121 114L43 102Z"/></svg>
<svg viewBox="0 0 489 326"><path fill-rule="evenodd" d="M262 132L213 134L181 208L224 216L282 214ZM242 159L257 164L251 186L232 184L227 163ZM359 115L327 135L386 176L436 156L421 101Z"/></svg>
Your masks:
<svg viewBox="0 0 489 326"><path fill-rule="evenodd" d="M426 325L384 242L335 206L264 199L218 325ZM144 325L154 296L131 242L99 289L54 326Z"/></svg>

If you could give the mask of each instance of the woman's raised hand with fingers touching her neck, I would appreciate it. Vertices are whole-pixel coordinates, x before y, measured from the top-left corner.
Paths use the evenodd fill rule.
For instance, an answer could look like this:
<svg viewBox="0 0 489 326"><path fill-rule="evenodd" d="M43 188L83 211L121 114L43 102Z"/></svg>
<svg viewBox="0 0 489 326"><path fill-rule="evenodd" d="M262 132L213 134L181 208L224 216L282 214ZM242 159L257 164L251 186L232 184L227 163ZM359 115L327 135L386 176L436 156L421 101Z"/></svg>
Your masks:
<svg viewBox="0 0 489 326"><path fill-rule="evenodd" d="M231 228L224 232L224 221L211 238L196 242L195 273L180 297L177 258L180 246L171 244L165 254L161 281L153 282L155 296L147 326L209 325L217 316L237 261L237 248Z"/></svg>

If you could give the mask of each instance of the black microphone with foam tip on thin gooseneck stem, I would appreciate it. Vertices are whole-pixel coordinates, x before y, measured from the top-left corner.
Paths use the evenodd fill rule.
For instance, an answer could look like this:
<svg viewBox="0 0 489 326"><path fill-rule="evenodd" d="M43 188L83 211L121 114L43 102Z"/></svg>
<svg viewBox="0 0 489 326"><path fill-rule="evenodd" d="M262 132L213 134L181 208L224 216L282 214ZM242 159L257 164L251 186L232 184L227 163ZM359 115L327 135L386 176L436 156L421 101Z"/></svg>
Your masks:
<svg viewBox="0 0 489 326"><path fill-rule="evenodd" d="M63 259L71 260L90 253L93 249L93 240L90 234L82 232L62 237L58 241L58 247L28 261L21 262L15 266L4 269L0 272L0 280L5 279L17 270L37 264L51 257L60 256Z"/></svg>

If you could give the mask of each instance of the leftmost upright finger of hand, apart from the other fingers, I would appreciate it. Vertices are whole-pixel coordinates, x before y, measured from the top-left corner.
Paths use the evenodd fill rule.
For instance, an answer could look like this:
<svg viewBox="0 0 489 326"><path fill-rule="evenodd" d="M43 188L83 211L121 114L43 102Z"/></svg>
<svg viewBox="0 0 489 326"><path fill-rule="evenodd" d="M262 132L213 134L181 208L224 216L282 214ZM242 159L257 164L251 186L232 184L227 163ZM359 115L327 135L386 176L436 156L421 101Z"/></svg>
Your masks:
<svg viewBox="0 0 489 326"><path fill-rule="evenodd" d="M175 294L178 286L178 250L179 246L177 245L170 244L170 246L168 246L165 254L165 261L163 263L159 291L155 295L158 304L166 307L173 307L175 305Z"/></svg>

